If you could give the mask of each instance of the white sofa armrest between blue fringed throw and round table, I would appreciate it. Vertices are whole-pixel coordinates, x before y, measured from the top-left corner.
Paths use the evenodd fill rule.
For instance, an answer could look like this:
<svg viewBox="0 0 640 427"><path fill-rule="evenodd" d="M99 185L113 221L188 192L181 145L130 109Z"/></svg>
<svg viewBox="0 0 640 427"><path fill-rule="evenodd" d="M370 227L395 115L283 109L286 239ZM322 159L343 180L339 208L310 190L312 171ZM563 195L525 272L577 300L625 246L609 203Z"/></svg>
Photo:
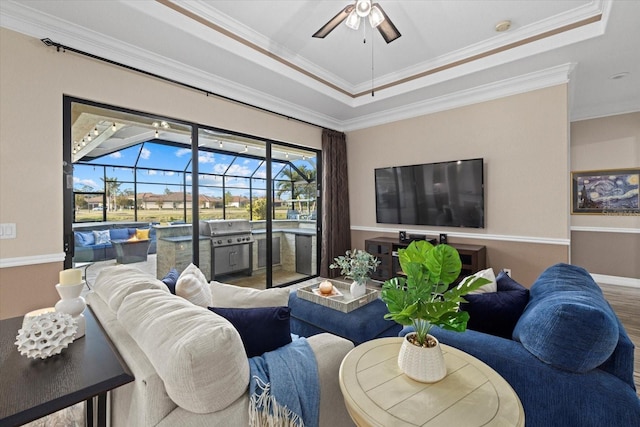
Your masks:
<svg viewBox="0 0 640 427"><path fill-rule="evenodd" d="M344 406L339 381L342 359L353 349L353 343L328 333L308 337L307 341L318 363L320 425L331 427L353 426Z"/></svg>

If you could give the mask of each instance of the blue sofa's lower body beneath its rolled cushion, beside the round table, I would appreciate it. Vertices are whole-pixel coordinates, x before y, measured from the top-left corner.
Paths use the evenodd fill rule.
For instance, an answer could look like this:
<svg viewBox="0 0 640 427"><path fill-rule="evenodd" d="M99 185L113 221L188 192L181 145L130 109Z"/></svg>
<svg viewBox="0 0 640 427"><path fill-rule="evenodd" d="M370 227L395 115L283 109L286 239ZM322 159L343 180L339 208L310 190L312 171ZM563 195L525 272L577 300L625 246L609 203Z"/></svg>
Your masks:
<svg viewBox="0 0 640 427"><path fill-rule="evenodd" d="M640 419L635 391L602 369L563 371L538 360L517 341L473 330L434 327L431 333L498 372L518 394L529 427L635 425Z"/></svg>

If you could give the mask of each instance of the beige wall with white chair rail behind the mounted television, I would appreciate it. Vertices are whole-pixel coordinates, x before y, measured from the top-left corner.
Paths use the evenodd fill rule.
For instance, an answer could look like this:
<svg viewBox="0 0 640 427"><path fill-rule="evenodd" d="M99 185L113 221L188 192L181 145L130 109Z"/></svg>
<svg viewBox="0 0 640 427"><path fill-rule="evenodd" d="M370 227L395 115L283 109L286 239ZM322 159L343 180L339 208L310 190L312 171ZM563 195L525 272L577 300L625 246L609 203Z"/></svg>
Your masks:
<svg viewBox="0 0 640 427"><path fill-rule="evenodd" d="M568 134L566 85L349 132L353 246L385 232L444 232L486 245L491 267L530 284L568 261ZM375 168L475 157L485 162L484 229L376 224Z"/></svg>

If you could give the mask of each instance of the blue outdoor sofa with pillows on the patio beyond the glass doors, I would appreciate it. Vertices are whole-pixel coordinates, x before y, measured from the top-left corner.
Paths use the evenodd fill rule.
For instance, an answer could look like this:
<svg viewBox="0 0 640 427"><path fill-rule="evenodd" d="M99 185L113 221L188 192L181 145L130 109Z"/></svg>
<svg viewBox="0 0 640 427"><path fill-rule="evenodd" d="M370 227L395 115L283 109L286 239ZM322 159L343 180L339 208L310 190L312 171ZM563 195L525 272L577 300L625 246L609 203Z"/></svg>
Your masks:
<svg viewBox="0 0 640 427"><path fill-rule="evenodd" d="M95 227L92 229L78 229L73 232L75 262L96 262L116 258L116 249L111 240L129 240L138 229L148 229L149 225L141 227ZM100 233L104 233L102 241ZM156 253L156 229L149 230L150 254Z"/></svg>

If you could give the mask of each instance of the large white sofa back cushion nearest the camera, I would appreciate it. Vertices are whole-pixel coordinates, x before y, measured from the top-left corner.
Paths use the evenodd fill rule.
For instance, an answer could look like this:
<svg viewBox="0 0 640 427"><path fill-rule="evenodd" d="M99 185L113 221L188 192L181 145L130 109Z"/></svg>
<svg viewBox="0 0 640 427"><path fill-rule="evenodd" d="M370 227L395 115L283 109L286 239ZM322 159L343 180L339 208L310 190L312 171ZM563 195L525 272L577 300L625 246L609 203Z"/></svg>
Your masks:
<svg viewBox="0 0 640 427"><path fill-rule="evenodd" d="M249 363L238 331L223 317L151 289L129 295L117 316L180 407L216 412L246 393Z"/></svg>

